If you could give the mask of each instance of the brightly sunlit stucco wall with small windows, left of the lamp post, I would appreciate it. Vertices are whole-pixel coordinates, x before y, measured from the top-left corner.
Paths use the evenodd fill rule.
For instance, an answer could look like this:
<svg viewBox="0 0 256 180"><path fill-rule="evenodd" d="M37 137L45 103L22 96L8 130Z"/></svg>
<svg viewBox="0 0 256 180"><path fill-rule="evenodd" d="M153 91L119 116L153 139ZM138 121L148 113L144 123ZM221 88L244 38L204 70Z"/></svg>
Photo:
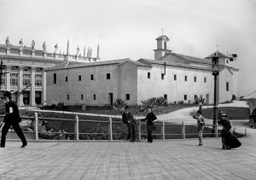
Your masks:
<svg viewBox="0 0 256 180"><path fill-rule="evenodd" d="M138 104L148 98L165 94L168 102L194 102L195 95L206 99L209 94L209 102L212 103L212 72L166 66L165 78L161 79L161 73L164 71L164 65L154 65L152 68L139 67ZM148 73L151 74L150 78L148 78ZM175 74L177 80L174 80ZM187 76L187 81L184 80L185 76ZM196 77L196 82L194 82L194 77ZM207 83L204 83L204 78L207 78ZM187 95L186 101L184 95Z"/></svg>

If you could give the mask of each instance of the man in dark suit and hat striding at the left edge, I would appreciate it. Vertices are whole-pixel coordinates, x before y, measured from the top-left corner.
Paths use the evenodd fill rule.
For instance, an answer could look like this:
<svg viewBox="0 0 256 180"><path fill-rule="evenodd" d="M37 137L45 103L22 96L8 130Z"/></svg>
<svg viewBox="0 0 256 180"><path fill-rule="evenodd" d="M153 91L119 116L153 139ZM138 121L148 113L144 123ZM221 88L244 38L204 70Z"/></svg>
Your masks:
<svg viewBox="0 0 256 180"><path fill-rule="evenodd" d="M3 97L5 100L5 116L3 119L3 129L2 129L2 136L1 136L1 148L5 147L5 140L6 135L9 131L10 126L12 126L16 132L16 134L20 137L20 140L22 142L22 146L20 148L25 148L27 145L26 138L23 134L23 132L20 129L20 113L17 105L15 102L12 101L12 96L9 91L5 91L3 93Z"/></svg>

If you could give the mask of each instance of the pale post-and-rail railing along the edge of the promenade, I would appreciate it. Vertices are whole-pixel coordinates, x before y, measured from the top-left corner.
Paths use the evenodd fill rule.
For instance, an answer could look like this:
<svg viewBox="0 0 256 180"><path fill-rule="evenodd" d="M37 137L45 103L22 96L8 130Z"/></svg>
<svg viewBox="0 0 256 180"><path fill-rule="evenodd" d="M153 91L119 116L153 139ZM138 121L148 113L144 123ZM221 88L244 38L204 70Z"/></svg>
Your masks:
<svg viewBox="0 0 256 180"><path fill-rule="evenodd" d="M3 117L3 115L0 115L0 117ZM104 138L105 140L114 141L116 138L113 138L113 136L121 135L123 132L115 132L113 130L114 125L125 125L119 120L113 120L112 118L108 118L108 120L85 120L85 119L79 119L79 116L76 115L74 119L54 119L54 118L40 118L38 117L38 113L35 113L34 117L21 117L21 119L30 119L33 122L33 131L24 131L25 134L31 134L32 138L36 141L40 141L42 139L39 138L39 135L61 135L61 136L67 136L67 140L75 140L79 141L81 140L80 136L108 136L108 139ZM107 119L107 118L106 118ZM38 125L42 125L42 122L44 121L65 121L65 122L73 122L73 131L39 131ZM147 127L146 122L141 121L140 119L137 120L137 140L142 141L142 139L145 139L147 136ZM98 123L99 125L105 125L105 127L108 129L107 131L95 131L95 132L82 132L79 131L79 127L90 125L92 123ZM80 125L83 124L83 125ZM63 125L63 124L62 124ZM186 138L195 138L197 137L197 126L196 124L192 123L184 123L183 121L181 123L171 123L166 121L160 121L155 122L154 125L156 125L157 130L154 131L153 136L156 139L166 140L166 139L186 139ZM125 125L126 126L126 125ZM194 131L187 132L187 128L194 127ZM213 125L206 124L205 129L203 131L203 136L213 136L218 137L220 128L218 128L218 125L214 126L215 133L212 133ZM123 128L126 130L126 127ZM234 128L235 131L237 131L237 128ZM208 130L208 131L207 131ZM247 131L245 130L238 130L239 133L244 134L247 136ZM160 137L160 138L159 138ZM44 137L43 137L44 139ZM56 139L56 138L54 138ZM58 138L57 138L58 139ZM63 138L62 138L63 139Z"/></svg>

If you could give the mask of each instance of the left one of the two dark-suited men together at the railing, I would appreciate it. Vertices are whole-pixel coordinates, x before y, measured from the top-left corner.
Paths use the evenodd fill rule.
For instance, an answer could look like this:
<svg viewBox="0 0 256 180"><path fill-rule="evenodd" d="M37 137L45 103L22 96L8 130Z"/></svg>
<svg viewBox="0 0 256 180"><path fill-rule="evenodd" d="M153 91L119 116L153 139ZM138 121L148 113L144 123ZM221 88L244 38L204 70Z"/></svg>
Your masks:
<svg viewBox="0 0 256 180"><path fill-rule="evenodd" d="M128 109L129 109L129 107L125 106L125 110L123 111L123 114L122 114L122 119L123 119L123 122L127 125L127 128L128 128L127 141L129 139L131 139L130 142L135 142L136 121L135 121L133 115L130 112L128 112Z"/></svg>

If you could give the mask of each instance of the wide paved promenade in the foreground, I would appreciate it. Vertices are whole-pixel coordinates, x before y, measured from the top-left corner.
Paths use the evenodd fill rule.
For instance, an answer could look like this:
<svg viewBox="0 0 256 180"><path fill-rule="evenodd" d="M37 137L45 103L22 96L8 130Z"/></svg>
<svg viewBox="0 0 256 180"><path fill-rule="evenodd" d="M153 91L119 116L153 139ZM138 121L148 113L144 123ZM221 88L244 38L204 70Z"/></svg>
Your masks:
<svg viewBox="0 0 256 180"><path fill-rule="evenodd" d="M146 142L21 142L0 148L0 179L256 179L256 138Z"/></svg>

